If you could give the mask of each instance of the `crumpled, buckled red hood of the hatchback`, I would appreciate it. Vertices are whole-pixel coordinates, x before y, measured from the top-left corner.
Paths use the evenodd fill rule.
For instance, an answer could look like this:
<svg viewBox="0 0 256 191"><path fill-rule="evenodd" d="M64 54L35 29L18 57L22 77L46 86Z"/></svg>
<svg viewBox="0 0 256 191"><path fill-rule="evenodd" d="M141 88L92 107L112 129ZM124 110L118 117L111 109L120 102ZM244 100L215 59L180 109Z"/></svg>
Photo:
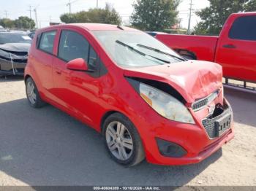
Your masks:
<svg viewBox="0 0 256 191"><path fill-rule="evenodd" d="M222 87L222 66L206 61L185 61L139 69L124 69L124 76L165 82L188 103Z"/></svg>

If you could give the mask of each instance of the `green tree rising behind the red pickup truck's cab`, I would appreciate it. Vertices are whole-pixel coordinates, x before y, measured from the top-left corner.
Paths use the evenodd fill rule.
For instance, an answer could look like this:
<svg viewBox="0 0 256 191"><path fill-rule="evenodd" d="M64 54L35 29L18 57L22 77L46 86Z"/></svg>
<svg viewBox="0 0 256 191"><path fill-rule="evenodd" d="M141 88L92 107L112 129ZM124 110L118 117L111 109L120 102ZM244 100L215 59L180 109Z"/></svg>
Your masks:
<svg viewBox="0 0 256 191"><path fill-rule="evenodd" d="M210 6L196 12L201 18L194 28L195 34L219 35L227 17L233 12L256 10L256 0L208 0Z"/></svg>

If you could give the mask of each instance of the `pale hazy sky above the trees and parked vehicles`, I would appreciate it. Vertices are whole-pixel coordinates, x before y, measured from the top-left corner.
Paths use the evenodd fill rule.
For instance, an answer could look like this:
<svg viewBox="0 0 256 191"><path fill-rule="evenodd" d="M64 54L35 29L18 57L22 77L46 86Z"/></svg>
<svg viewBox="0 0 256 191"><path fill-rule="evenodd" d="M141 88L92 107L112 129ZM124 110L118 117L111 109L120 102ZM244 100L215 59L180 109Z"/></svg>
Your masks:
<svg viewBox="0 0 256 191"><path fill-rule="evenodd" d="M97 6L97 0L70 0L72 3L72 12L88 10ZM129 16L133 12L132 4L135 0L98 0L99 7L105 7L105 3L110 3L123 18L124 24L129 23ZM29 9L31 6L31 18L35 18L34 7L37 8L37 17L39 27L48 26L49 22L60 22L59 16L69 12L67 3L69 0L0 0L0 17L16 19L20 15L30 17ZM181 26L187 28L189 18L190 0L181 0L178 7L181 19ZM200 18L195 15L195 11L208 7L208 0L192 0L192 27L194 27Z"/></svg>

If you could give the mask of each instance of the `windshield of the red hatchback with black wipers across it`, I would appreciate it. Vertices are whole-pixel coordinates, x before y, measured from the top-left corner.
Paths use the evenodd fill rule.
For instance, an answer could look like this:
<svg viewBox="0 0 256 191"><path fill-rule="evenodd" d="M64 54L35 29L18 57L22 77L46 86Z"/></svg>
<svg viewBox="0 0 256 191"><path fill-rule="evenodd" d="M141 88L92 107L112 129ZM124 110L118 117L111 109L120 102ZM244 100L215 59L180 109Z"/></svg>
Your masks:
<svg viewBox="0 0 256 191"><path fill-rule="evenodd" d="M93 33L118 66L135 68L182 61L182 58L165 44L140 31L94 31Z"/></svg>

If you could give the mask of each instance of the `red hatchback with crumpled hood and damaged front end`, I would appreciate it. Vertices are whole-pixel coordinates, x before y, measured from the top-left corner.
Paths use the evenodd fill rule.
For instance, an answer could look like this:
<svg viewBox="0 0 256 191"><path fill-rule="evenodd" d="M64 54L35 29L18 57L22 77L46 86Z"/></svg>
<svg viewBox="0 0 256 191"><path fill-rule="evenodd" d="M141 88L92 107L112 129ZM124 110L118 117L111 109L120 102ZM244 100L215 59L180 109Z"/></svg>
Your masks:
<svg viewBox="0 0 256 191"><path fill-rule="evenodd" d="M198 163L234 136L222 66L185 61L133 28L40 29L25 72L31 106L52 104L102 133L122 165Z"/></svg>

